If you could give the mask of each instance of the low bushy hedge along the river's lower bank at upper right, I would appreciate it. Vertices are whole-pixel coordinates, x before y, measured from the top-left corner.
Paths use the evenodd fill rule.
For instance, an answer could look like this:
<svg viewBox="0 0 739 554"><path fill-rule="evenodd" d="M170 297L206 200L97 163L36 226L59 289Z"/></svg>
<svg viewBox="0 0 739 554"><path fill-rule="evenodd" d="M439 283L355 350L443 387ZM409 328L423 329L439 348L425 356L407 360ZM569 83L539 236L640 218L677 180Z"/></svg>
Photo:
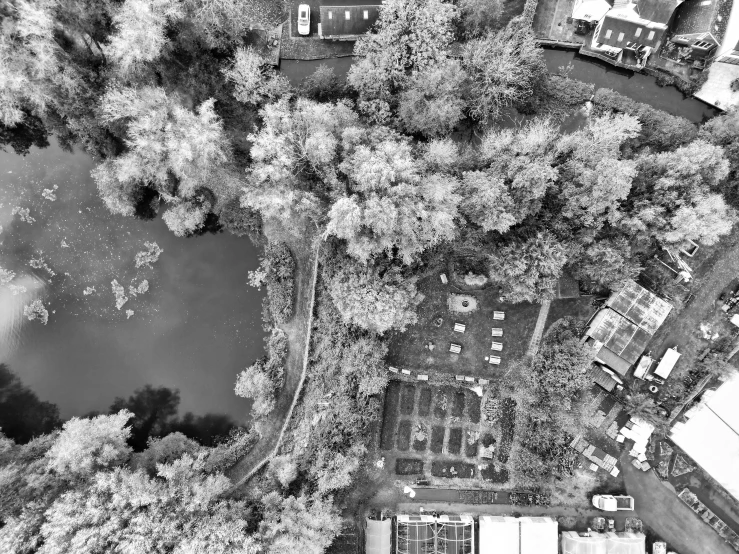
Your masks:
<svg viewBox="0 0 739 554"><path fill-rule="evenodd" d="M598 89L593 101L599 110L625 113L639 119L641 133L631 141L633 148L649 146L659 151L674 150L698 134L696 126L684 117L656 110L610 89Z"/></svg>

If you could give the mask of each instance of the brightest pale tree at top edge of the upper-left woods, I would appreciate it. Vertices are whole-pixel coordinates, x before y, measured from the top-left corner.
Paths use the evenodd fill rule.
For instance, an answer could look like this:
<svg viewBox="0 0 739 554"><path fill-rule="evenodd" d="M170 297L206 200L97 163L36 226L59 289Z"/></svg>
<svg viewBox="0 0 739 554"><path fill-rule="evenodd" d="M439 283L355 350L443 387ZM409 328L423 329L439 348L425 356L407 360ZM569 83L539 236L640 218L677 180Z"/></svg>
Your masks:
<svg viewBox="0 0 739 554"><path fill-rule="evenodd" d="M116 32L105 52L122 73L135 71L159 57L169 42L168 25L183 17L176 0L125 0L113 16Z"/></svg>

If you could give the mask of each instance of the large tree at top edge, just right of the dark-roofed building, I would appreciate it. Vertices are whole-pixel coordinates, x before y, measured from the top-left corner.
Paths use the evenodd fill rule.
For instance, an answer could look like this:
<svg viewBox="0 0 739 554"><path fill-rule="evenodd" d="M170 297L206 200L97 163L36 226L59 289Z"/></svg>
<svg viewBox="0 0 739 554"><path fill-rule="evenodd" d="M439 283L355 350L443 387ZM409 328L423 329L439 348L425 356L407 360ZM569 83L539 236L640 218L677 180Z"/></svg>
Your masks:
<svg viewBox="0 0 739 554"><path fill-rule="evenodd" d="M457 8L442 0L389 0L372 32L357 40L347 82L362 98L387 99L408 70L423 71L446 58Z"/></svg>

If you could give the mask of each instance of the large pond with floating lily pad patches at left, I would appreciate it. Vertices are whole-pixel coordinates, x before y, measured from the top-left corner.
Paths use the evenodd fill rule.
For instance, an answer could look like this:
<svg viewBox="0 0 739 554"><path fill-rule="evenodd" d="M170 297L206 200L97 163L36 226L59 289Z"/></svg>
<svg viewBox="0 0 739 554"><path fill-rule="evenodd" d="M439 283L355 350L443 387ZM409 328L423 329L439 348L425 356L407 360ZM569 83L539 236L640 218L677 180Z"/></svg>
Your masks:
<svg viewBox="0 0 739 554"><path fill-rule="evenodd" d="M152 384L179 389L181 414L243 423L249 403L233 392L236 374L264 352L263 293L247 284L259 251L228 233L177 238L161 219L111 215L94 166L53 139L25 157L0 152L0 267L26 289L0 287L0 362L65 419ZM145 242L163 253L136 268ZM120 309L114 279L128 297ZM149 290L131 293L144 279ZM34 298L47 325L23 315Z"/></svg>

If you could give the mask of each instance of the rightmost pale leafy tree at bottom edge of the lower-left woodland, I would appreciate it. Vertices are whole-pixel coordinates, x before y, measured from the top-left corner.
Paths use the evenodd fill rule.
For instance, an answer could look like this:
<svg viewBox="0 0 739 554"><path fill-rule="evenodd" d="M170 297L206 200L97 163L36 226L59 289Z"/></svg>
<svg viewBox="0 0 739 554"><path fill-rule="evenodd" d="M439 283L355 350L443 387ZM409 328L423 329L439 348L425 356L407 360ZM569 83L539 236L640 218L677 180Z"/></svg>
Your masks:
<svg viewBox="0 0 739 554"><path fill-rule="evenodd" d="M339 513L330 500L319 496L264 497L260 533L267 554L305 552L322 554L341 529Z"/></svg>

